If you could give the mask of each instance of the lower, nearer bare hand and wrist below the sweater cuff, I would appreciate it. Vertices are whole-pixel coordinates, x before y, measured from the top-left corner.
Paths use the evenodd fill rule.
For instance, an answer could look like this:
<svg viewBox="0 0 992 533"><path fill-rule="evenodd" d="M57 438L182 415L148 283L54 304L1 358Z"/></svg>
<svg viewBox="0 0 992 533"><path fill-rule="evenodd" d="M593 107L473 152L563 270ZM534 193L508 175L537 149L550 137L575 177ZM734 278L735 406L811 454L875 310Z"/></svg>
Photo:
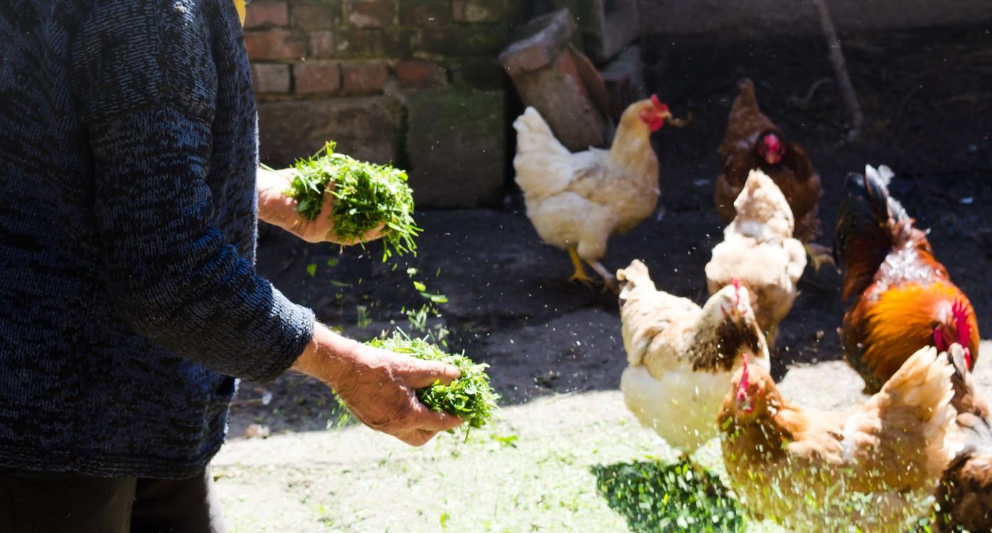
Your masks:
<svg viewBox="0 0 992 533"><path fill-rule="evenodd" d="M334 388L363 424L413 446L423 446L437 432L462 423L417 399L418 388L458 377L458 370L449 365L398 356L317 325L310 346L293 368Z"/></svg>

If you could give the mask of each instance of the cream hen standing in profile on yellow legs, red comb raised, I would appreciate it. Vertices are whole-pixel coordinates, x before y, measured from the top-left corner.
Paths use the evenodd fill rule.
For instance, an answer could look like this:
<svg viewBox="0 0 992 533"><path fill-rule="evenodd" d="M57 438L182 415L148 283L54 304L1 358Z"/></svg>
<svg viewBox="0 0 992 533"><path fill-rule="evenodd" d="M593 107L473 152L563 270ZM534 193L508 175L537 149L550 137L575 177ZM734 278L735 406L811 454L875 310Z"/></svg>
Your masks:
<svg viewBox="0 0 992 533"><path fill-rule="evenodd" d="M571 280L590 282L584 261L613 286L613 275L599 260L611 235L633 229L655 210L660 190L651 133L666 120L681 124L657 96L635 102L620 117L610 150L576 154L561 146L533 107L513 123L513 166L527 217L541 239L568 252L575 267Z"/></svg>

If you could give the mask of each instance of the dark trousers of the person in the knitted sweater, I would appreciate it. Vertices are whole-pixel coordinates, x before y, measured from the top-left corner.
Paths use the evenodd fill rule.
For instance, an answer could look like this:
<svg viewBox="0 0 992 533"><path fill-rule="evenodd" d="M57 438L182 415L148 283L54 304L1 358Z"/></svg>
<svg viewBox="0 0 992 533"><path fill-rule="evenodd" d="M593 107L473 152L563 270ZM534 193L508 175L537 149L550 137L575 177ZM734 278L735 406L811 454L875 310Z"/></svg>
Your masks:
<svg viewBox="0 0 992 533"><path fill-rule="evenodd" d="M3 533L223 533L210 470L188 480L0 469Z"/></svg>

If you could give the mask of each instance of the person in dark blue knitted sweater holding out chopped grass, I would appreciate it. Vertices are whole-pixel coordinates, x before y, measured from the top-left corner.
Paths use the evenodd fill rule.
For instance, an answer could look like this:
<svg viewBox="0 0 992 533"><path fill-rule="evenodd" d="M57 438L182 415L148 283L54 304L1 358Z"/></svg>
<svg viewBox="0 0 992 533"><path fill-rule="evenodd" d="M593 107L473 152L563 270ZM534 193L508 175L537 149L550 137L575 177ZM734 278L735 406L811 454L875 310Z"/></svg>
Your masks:
<svg viewBox="0 0 992 533"><path fill-rule="evenodd" d="M222 531L235 377L309 373L412 445L461 422L414 393L456 369L340 337L255 271L258 218L341 240L257 174L235 4L0 2L0 531Z"/></svg>

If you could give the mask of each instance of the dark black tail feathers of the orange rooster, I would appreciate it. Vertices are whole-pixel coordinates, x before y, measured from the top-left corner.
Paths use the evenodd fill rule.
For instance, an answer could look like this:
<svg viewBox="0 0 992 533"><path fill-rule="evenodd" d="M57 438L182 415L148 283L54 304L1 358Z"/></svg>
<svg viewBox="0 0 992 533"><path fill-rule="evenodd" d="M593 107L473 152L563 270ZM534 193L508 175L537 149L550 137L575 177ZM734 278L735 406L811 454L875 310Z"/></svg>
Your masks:
<svg viewBox="0 0 992 533"><path fill-rule="evenodd" d="M892 170L866 166L864 174L847 174L847 199L840 204L833 239L833 258L844 267L844 292L860 294L893 247L894 223L906 215L889 196Z"/></svg>

